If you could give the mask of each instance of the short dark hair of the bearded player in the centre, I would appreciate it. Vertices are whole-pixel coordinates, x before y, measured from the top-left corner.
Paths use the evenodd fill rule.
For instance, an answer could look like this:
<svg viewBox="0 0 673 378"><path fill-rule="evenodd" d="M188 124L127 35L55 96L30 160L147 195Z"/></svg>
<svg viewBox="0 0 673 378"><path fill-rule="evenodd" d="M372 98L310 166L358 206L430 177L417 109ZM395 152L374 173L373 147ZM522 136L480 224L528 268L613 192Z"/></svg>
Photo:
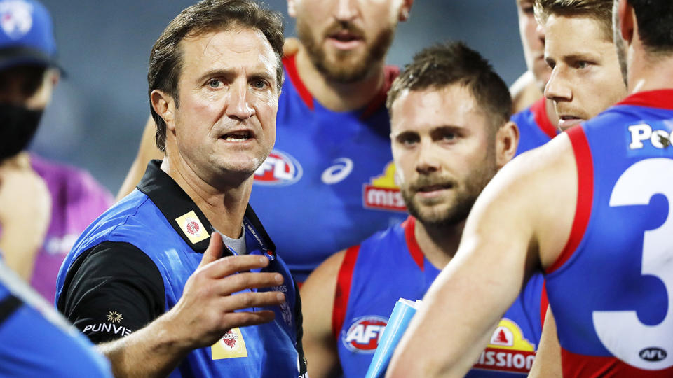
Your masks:
<svg viewBox="0 0 673 378"><path fill-rule="evenodd" d="M388 91L390 116L393 102L403 90L441 89L453 84L467 87L497 127L512 116L512 97L503 79L479 52L462 42L438 43L414 55Z"/></svg>

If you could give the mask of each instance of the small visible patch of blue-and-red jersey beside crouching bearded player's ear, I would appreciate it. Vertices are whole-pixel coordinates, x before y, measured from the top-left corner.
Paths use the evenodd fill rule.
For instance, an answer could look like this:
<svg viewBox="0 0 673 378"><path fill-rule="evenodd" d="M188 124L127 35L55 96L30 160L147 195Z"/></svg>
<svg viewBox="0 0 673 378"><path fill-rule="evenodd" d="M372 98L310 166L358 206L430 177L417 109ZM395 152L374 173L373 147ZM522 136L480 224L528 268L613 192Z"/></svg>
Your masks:
<svg viewBox="0 0 673 378"><path fill-rule="evenodd" d="M517 155L538 148L557 136L558 131L547 118L545 98L541 98L524 111L511 118L519 127Z"/></svg>

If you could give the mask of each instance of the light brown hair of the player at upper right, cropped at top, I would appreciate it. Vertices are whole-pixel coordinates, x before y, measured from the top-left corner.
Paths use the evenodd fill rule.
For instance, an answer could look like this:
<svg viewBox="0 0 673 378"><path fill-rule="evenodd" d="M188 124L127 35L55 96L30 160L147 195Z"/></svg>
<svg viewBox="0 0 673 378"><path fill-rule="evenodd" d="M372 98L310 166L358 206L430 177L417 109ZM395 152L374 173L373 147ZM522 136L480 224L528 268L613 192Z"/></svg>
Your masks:
<svg viewBox="0 0 673 378"><path fill-rule="evenodd" d="M613 0L535 0L535 18L544 25L550 15L585 16L601 26L605 38L612 41Z"/></svg>

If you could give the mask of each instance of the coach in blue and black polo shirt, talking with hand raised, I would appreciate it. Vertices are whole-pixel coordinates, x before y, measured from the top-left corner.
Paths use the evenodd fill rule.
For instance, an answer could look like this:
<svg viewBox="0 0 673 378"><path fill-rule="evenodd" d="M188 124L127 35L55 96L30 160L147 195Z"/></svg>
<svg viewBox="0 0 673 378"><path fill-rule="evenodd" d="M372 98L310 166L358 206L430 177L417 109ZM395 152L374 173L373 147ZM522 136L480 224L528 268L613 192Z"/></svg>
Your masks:
<svg viewBox="0 0 673 378"><path fill-rule="evenodd" d="M250 0L200 1L152 48L165 159L90 225L57 282L57 307L115 375L306 372L299 293L248 205L275 139L282 48L280 15Z"/></svg>

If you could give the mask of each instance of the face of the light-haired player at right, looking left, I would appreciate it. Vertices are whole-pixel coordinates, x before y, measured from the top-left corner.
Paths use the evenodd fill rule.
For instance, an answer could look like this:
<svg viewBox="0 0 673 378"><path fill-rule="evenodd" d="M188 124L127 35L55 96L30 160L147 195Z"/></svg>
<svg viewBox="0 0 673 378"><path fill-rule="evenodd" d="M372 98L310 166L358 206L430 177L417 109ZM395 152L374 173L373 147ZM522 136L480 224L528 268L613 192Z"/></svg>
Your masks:
<svg viewBox="0 0 673 378"><path fill-rule="evenodd" d="M545 96L554 102L561 130L597 116L625 97L612 36L599 21L550 15L545 40L545 60L552 67Z"/></svg>

